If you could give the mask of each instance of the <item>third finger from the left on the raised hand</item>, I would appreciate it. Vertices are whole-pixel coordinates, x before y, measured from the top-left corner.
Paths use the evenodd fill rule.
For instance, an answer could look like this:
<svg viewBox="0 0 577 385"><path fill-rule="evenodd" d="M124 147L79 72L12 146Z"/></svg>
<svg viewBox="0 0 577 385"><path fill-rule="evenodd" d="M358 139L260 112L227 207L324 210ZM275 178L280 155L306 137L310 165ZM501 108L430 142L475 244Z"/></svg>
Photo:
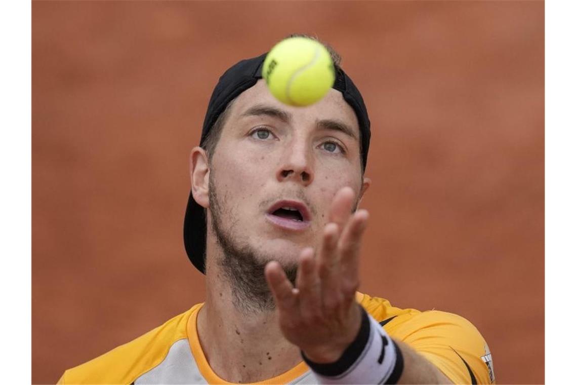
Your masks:
<svg viewBox="0 0 577 385"><path fill-rule="evenodd" d="M323 307L328 313L333 312L340 301L338 240L338 226L336 223L329 223L324 228L323 243L319 251L321 295Z"/></svg>

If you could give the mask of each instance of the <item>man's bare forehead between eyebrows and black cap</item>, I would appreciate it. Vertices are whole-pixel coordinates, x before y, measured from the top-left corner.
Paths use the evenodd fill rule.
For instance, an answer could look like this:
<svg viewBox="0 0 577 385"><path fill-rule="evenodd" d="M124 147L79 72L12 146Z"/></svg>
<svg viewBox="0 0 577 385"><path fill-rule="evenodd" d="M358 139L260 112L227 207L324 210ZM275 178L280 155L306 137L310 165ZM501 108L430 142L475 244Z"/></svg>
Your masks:
<svg viewBox="0 0 577 385"><path fill-rule="evenodd" d="M314 122L320 119L336 119L347 124L359 137L357 115L349 103L344 100L343 94L334 88L329 89L327 95L317 103L306 107L293 107L279 102L268 91L265 81L260 79L253 87L242 92L235 99L231 106L231 119L229 120L234 121L234 118L240 117L250 107L257 104L266 104L284 110L300 123Z"/></svg>

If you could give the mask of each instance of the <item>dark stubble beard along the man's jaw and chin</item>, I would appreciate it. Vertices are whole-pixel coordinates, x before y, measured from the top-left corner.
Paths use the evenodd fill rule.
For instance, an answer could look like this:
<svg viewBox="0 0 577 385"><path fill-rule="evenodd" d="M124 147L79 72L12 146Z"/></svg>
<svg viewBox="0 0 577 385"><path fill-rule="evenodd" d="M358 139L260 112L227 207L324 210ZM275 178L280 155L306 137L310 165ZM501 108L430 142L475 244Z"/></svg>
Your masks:
<svg viewBox="0 0 577 385"><path fill-rule="evenodd" d="M213 174L212 172L209 176L208 182L211 228L222 251L222 257L219 258L218 264L230 284L235 300L234 306L244 314L271 312L275 309L275 301L264 276L264 267L274 257L264 255L252 248L247 242L242 241L233 231L224 229L223 219L232 223L231 229L234 229L238 220L232 218L230 212L223 212L213 182ZM283 269L287 278L294 285L297 278L297 264L283 266Z"/></svg>

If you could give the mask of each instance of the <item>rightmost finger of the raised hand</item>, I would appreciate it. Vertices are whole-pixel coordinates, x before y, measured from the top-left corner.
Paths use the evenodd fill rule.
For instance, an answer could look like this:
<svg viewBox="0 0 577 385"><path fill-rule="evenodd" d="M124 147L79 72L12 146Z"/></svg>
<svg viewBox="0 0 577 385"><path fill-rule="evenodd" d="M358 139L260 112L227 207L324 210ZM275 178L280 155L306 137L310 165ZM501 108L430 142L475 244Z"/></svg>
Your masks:
<svg viewBox="0 0 577 385"><path fill-rule="evenodd" d="M368 219L368 211L358 210L355 212L344 227L339 240L340 286L346 297L354 297L358 287L359 252Z"/></svg>

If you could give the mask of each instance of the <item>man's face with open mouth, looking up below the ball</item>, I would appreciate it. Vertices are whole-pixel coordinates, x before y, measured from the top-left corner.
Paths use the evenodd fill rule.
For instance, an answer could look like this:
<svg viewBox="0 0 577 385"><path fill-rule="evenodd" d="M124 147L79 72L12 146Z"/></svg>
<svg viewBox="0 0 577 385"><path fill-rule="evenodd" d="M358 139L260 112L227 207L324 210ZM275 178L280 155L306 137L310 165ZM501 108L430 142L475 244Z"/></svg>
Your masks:
<svg viewBox="0 0 577 385"><path fill-rule="evenodd" d="M209 221L218 215L220 230L259 262L294 266L302 248L319 244L336 192L350 186L360 199L359 135L335 89L291 107L259 80L231 106L212 156Z"/></svg>

